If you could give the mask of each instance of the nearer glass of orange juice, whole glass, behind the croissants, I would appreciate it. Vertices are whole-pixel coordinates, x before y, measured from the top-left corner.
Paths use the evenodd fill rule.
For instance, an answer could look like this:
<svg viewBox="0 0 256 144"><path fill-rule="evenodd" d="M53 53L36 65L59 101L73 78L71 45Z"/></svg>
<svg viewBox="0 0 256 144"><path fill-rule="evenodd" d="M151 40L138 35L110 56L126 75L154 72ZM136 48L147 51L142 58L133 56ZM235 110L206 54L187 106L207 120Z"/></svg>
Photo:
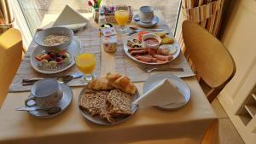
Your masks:
<svg viewBox="0 0 256 144"><path fill-rule="evenodd" d="M84 73L84 82L89 83L95 78L93 71L96 67L96 57L93 54L84 53L75 58L76 66Z"/></svg>

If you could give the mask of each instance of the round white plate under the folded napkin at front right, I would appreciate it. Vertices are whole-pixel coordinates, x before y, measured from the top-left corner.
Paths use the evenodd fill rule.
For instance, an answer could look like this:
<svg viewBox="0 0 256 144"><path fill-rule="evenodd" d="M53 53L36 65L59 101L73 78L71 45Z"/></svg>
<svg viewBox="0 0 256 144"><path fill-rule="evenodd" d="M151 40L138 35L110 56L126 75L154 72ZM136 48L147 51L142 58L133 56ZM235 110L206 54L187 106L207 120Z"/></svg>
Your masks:
<svg viewBox="0 0 256 144"><path fill-rule="evenodd" d="M185 106L190 99L189 86L181 78L178 78L177 76L174 76L172 74L160 74L149 77L143 84L143 93L145 94L149 89L153 89L156 84L159 84L160 81L162 81L165 78L169 79L173 84L177 86L178 91L184 96L185 101L181 103L172 103L169 105L158 107L165 110L174 110ZM170 96L172 95L170 94Z"/></svg>

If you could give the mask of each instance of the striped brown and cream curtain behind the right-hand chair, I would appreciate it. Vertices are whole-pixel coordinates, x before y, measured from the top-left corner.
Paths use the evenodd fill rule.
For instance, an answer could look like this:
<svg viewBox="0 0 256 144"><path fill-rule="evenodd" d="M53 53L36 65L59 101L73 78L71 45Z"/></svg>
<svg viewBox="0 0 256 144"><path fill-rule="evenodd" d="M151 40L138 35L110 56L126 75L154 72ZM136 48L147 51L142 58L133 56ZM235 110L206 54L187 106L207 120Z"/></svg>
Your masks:
<svg viewBox="0 0 256 144"><path fill-rule="evenodd" d="M183 20L192 20L205 27L212 35L218 36L223 5L224 0L182 0L180 29ZM180 33L177 33L177 39L184 55L186 55L181 30Z"/></svg>

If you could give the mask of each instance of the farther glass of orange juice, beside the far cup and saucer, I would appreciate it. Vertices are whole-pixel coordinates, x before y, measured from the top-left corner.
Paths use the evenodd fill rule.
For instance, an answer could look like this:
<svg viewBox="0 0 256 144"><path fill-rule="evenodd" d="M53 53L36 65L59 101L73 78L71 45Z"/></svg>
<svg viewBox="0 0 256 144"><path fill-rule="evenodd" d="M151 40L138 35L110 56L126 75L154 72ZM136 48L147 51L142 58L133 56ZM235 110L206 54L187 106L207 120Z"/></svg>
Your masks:
<svg viewBox="0 0 256 144"><path fill-rule="evenodd" d="M122 6L123 9L116 9L114 12L114 17L116 22L118 23L119 31L126 32L125 25L129 21L129 11L127 6Z"/></svg>

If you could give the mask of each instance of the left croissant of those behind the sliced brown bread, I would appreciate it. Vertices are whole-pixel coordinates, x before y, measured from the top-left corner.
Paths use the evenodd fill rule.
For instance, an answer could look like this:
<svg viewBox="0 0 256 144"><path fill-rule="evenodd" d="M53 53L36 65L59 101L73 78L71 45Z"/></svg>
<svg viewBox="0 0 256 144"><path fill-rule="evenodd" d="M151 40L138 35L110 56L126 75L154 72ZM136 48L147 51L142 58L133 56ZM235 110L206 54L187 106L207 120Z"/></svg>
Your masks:
<svg viewBox="0 0 256 144"><path fill-rule="evenodd" d="M114 89L113 86L108 82L108 78L105 78L105 77L93 79L87 85L87 88L95 89L95 90L112 90L112 89Z"/></svg>

